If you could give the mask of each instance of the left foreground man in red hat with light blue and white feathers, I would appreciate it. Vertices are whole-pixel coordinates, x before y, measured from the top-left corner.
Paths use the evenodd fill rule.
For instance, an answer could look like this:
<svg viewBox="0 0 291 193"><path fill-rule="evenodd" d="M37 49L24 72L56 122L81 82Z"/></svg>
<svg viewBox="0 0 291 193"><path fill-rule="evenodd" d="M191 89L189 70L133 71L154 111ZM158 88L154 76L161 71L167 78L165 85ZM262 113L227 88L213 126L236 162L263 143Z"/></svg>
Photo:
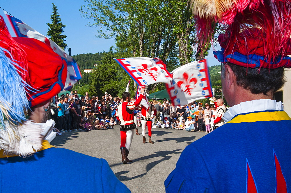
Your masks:
<svg viewBox="0 0 291 193"><path fill-rule="evenodd" d="M49 101L66 84L68 60L37 39L12 38L1 16L0 26L0 191L130 192L106 160L49 144Z"/></svg>

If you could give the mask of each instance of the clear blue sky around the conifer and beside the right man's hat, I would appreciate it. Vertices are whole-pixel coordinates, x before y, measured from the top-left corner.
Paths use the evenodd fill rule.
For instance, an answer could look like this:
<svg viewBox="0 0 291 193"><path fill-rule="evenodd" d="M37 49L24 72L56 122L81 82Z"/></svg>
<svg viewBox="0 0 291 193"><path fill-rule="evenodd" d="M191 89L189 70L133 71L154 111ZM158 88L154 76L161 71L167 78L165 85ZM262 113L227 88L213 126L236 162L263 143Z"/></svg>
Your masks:
<svg viewBox="0 0 291 193"><path fill-rule="evenodd" d="M98 35L97 29L86 26L91 20L82 18L81 12L79 11L81 6L86 4L84 0L39 0L37 3L29 3L28 1L21 0L6 0L1 1L0 7L37 30L39 33L46 35L48 26L45 23L51 23L52 3L57 6L62 23L66 25L64 28L64 34L67 36L65 43L68 44L68 48L72 48L72 55L88 52L107 52L111 46L115 46L114 40L96 38ZM6 21L11 35L15 36L10 27L10 23L7 21L1 9L0 15L2 15ZM208 58L209 66L219 65L220 62L213 57L213 48L210 49L210 55L206 57ZM68 49L65 51L68 52Z"/></svg>

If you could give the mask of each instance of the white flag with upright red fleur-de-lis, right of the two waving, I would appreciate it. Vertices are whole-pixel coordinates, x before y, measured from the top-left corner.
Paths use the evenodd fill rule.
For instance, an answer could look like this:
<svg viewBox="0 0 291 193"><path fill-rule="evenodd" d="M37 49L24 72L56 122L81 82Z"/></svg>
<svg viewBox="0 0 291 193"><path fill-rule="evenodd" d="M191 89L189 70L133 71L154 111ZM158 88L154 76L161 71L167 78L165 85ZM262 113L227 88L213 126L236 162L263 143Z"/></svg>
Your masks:
<svg viewBox="0 0 291 193"><path fill-rule="evenodd" d="M212 97L206 59L180 66L173 70L172 75L173 80L166 87L175 106Z"/></svg>

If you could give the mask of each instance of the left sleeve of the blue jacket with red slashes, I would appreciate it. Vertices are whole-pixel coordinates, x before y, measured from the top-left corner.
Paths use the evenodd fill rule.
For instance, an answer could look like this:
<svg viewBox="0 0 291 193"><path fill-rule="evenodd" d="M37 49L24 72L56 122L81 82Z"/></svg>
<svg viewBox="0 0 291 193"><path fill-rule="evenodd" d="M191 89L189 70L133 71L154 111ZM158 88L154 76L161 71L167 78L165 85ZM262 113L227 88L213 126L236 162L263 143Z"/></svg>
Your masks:
<svg viewBox="0 0 291 193"><path fill-rule="evenodd" d="M213 192L212 178L205 161L196 147L188 145L182 152L176 168L165 180L166 192Z"/></svg>

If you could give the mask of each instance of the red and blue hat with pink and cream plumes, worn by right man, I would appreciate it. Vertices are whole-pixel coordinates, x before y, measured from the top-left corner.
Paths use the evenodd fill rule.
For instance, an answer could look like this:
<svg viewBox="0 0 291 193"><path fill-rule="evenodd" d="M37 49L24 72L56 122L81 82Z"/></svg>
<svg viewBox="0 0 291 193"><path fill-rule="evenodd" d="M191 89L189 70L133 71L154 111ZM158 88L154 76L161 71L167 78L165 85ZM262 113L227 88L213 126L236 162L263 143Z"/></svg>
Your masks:
<svg viewBox="0 0 291 193"><path fill-rule="evenodd" d="M290 0L191 0L197 36L208 44L219 22L219 62L249 68L291 67Z"/></svg>

